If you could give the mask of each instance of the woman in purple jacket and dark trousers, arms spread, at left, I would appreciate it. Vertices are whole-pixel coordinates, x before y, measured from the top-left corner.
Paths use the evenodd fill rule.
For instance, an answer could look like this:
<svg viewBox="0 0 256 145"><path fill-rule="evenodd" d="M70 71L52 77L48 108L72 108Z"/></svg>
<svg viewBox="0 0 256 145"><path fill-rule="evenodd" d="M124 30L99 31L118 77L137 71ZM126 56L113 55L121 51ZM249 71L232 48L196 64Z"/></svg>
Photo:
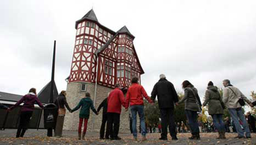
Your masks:
<svg viewBox="0 0 256 145"><path fill-rule="evenodd" d="M16 133L16 137L23 137L26 132L27 126L29 125L30 118L32 116L33 110L35 109L34 104L37 103L41 108L43 108L42 103L36 96L36 89L31 88L29 93L23 96L20 101L10 107L8 110L12 110L18 107L21 103L24 103L21 107L20 113L20 124ZM22 131L21 131L22 130ZM21 132L21 133L20 133Z"/></svg>

